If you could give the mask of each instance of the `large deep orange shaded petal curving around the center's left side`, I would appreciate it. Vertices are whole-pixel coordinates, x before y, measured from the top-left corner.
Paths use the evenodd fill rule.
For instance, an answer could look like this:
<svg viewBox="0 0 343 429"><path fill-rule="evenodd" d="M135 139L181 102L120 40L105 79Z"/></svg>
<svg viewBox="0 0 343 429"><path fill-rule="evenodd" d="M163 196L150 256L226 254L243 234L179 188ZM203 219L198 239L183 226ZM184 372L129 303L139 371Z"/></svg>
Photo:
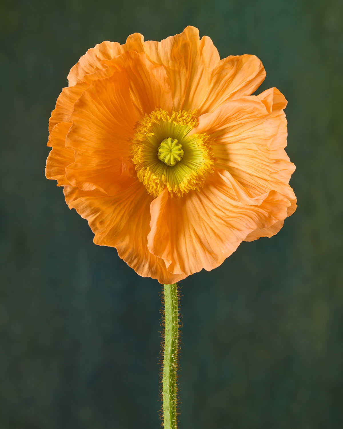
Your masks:
<svg viewBox="0 0 343 429"><path fill-rule="evenodd" d="M164 69L144 53L127 52L108 65L118 71L94 81L70 115L66 147L75 151L75 162L66 177L82 190L114 195L135 181L134 169L126 167L136 122L160 104L171 108L171 93Z"/></svg>

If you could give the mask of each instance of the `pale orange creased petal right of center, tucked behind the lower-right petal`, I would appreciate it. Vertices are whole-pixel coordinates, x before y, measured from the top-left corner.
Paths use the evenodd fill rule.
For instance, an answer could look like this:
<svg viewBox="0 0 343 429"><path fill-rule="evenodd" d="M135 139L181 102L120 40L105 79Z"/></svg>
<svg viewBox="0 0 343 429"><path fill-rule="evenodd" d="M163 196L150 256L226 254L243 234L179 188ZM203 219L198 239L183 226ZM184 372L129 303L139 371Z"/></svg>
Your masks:
<svg viewBox="0 0 343 429"><path fill-rule="evenodd" d="M296 208L289 179L295 170L284 151L287 122L283 110L286 100L276 88L258 97L232 100L215 112L202 115L193 133L207 132L214 138L216 167L226 169L251 195L276 190L291 202L288 216ZM282 224L278 224L281 228ZM258 230L247 237L271 236L277 232ZM256 239L254 238L254 239Z"/></svg>

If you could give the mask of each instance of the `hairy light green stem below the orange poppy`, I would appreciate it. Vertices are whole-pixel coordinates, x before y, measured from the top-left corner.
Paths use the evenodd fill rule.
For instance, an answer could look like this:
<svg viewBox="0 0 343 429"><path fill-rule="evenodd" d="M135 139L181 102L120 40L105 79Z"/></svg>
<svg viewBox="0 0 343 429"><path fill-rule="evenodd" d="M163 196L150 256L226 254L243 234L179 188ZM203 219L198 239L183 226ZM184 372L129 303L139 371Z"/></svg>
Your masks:
<svg viewBox="0 0 343 429"><path fill-rule="evenodd" d="M162 372L163 427L178 427L178 347L179 313L177 284L164 285L164 350Z"/></svg>

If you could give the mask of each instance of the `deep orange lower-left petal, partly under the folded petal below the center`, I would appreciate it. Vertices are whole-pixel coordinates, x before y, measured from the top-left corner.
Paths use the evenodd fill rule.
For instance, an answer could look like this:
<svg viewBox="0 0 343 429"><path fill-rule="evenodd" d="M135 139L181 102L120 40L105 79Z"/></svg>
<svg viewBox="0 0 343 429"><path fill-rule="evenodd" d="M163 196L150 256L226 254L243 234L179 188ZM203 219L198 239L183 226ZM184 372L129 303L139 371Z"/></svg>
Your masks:
<svg viewBox="0 0 343 429"><path fill-rule="evenodd" d="M65 186L64 194L69 208L75 208L82 218L87 219L94 233L94 243L117 248L119 257L139 275L155 278L162 284L184 278L168 273L165 262L148 251L153 197L141 183L136 181L115 196L74 186Z"/></svg>

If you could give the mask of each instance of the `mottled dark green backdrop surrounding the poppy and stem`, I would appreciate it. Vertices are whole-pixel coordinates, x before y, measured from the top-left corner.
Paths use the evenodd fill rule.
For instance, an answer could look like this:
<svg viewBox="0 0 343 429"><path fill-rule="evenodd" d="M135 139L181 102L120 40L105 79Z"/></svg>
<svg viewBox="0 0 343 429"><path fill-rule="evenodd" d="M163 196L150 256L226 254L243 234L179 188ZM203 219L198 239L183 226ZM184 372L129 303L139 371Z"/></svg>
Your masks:
<svg viewBox="0 0 343 429"><path fill-rule="evenodd" d="M103 40L193 24L289 100L298 209L181 282L181 429L343 427L340 1L1 2L0 428L158 428L157 281L93 244L44 177L48 118Z"/></svg>

